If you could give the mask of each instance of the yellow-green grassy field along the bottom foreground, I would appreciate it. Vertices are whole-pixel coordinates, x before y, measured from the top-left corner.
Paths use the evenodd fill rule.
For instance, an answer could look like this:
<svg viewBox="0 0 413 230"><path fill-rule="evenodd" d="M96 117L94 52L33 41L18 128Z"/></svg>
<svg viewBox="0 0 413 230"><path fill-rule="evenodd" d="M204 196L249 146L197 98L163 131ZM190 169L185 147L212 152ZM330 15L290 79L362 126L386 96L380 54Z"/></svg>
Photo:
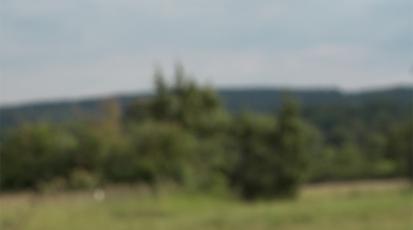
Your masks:
<svg viewBox="0 0 413 230"><path fill-rule="evenodd" d="M413 229L413 192L403 181L306 186L296 200L242 202L137 188L0 196L0 229Z"/></svg>

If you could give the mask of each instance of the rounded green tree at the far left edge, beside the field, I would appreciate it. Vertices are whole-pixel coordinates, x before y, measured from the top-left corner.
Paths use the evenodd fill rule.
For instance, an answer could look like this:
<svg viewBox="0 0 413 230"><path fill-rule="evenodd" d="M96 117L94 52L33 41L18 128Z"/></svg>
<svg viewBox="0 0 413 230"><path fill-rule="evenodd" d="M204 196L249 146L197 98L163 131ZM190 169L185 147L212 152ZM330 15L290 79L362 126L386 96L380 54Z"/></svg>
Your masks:
<svg viewBox="0 0 413 230"><path fill-rule="evenodd" d="M61 128L36 124L15 129L1 146L2 189L38 188L67 176L75 148L76 139Z"/></svg>

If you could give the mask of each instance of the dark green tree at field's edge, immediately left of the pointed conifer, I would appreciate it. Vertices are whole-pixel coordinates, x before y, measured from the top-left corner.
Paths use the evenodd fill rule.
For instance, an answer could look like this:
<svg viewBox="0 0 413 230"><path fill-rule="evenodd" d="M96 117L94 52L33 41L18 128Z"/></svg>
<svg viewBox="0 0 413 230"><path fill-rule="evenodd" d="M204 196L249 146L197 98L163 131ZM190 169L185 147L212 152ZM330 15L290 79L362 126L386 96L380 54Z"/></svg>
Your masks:
<svg viewBox="0 0 413 230"><path fill-rule="evenodd" d="M274 119L243 114L234 121L238 157L231 176L232 185L246 199L274 194L275 152L271 148Z"/></svg>

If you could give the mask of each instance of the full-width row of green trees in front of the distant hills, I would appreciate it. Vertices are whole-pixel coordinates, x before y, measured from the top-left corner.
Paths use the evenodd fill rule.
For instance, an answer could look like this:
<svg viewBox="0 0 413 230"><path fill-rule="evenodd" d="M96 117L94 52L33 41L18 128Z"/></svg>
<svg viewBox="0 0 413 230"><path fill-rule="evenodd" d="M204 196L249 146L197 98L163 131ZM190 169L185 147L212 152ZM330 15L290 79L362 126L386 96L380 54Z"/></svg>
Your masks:
<svg viewBox="0 0 413 230"><path fill-rule="evenodd" d="M0 143L1 190L142 183L156 191L172 183L257 199L294 196L304 182L413 178L412 119L371 132L333 123L334 132L324 132L292 95L273 115L233 114L180 66L173 84L160 70L154 79L154 96L124 113L108 100L99 119L8 132Z"/></svg>

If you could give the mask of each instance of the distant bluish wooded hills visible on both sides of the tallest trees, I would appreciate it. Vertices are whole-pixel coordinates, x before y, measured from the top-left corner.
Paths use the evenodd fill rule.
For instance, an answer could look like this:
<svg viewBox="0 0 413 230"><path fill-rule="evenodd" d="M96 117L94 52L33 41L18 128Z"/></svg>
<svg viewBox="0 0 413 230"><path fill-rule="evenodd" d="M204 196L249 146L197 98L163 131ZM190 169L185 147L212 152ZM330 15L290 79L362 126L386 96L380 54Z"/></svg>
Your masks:
<svg viewBox="0 0 413 230"><path fill-rule="evenodd" d="M345 93L335 89L221 89L218 90L225 106L234 113L254 111L271 113L276 111L284 94L297 98L304 115L322 128L328 128L338 117L358 117L368 120L369 116L383 116L399 119L412 116L413 87L370 90ZM124 110L137 99L146 100L149 94L122 95L112 97ZM0 108L0 129L2 132L25 122L64 122L73 119L95 119L102 114L102 103L107 98L35 103ZM380 113L380 114L378 114ZM329 123L330 122L330 123Z"/></svg>

